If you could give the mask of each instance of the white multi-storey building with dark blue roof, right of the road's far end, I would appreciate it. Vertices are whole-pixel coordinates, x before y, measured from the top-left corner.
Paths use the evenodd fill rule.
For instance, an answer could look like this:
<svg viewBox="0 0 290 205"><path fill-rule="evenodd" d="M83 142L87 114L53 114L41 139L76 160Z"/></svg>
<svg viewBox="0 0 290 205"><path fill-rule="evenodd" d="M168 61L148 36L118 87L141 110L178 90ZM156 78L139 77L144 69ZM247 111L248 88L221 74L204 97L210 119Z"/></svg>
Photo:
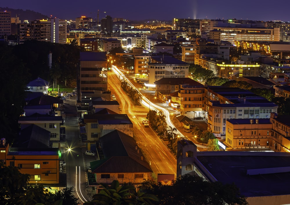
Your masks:
<svg viewBox="0 0 290 205"><path fill-rule="evenodd" d="M189 64L171 56L151 56L148 63L148 83L154 84L161 78L187 78Z"/></svg>

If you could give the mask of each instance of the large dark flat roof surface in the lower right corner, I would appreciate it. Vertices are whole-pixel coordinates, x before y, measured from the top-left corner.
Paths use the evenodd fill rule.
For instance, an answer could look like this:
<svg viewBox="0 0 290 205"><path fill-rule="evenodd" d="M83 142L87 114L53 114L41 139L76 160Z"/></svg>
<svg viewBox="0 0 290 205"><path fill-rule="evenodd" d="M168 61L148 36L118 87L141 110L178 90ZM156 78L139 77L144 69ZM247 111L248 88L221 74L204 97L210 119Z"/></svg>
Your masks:
<svg viewBox="0 0 290 205"><path fill-rule="evenodd" d="M235 183L246 197L290 194L290 172L247 175L250 169L290 166L290 153L197 152L197 159L222 183Z"/></svg>

